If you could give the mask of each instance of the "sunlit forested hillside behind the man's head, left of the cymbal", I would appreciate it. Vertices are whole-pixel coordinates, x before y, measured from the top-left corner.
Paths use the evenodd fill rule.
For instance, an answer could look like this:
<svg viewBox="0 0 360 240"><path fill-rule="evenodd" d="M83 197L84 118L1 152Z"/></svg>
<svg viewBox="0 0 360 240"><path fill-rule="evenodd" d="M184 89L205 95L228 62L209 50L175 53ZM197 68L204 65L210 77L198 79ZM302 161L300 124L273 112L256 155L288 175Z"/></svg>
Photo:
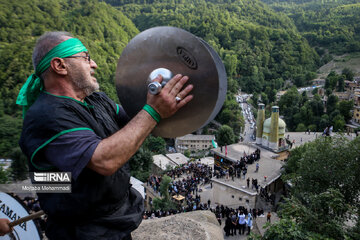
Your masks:
<svg viewBox="0 0 360 240"><path fill-rule="evenodd" d="M99 65L96 77L100 85L117 99L113 82L117 59L138 33L120 11L95 0L81 4L70 0L14 0L2 1L0 7L0 97L6 114L21 110L15 106L15 100L33 72L31 54L35 40L45 31L69 31L80 38Z"/></svg>

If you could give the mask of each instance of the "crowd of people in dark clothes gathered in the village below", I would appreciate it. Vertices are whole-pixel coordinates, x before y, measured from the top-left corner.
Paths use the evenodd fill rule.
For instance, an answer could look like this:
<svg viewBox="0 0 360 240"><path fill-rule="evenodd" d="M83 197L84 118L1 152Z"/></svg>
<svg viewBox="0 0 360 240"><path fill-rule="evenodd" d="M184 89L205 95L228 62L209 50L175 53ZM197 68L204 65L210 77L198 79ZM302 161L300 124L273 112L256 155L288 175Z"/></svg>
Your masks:
<svg viewBox="0 0 360 240"><path fill-rule="evenodd" d="M229 171L230 176L234 178L235 176L240 178L239 172L246 170L247 164L252 164L255 161L260 159L260 150L257 149L254 153L241 158L238 163L232 165L234 171ZM258 166L257 166L258 170ZM154 219L166 217L169 215L174 215L183 212L196 211L196 210L210 210L215 215L219 224L221 225L222 221L225 220L224 231L226 236L239 234L250 234L251 228L253 226L253 221L259 217L264 216L263 209L246 209L243 206L239 206L237 209L225 207L223 205L217 205L215 208L211 207L211 201L208 200L207 203L201 203L200 195L198 195L199 185L206 184L210 181L213 172L212 168L203 165L201 163L192 162L185 164L181 167L170 170L166 173L170 176L173 181L169 186L170 195L181 194L185 196L186 205L179 205L177 209L171 209L168 211L163 210L151 210L145 211L143 218L144 219ZM214 176L219 176L219 171L214 172ZM154 191L159 192L160 184L162 177L151 175L148 180L148 185L153 188ZM250 178L247 178L247 186L250 188ZM251 179L252 189L259 190L259 184L257 179ZM260 189L261 191L265 191ZM265 195L265 192L263 192ZM247 233L246 233L247 231Z"/></svg>

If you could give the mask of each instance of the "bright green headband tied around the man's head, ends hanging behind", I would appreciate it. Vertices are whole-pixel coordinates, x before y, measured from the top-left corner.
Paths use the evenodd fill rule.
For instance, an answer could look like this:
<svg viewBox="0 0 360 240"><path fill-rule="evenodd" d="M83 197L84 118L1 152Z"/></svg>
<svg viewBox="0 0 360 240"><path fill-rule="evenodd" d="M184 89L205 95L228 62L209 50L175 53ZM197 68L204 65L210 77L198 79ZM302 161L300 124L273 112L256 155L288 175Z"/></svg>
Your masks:
<svg viewBox="0 0 360 240"><path fill-rule="evenodd" d="M43 90L43 83L40 75L50 67L50 62L53 58L65 58L72 56L79 52L87 52L86 47L77 38L70 38L51 49L41 59L40 63L35 69L35 73L26 80L25 84L20 89L16 104L23 106L23 117L26 111L35 102L40 92Z"/></svg>

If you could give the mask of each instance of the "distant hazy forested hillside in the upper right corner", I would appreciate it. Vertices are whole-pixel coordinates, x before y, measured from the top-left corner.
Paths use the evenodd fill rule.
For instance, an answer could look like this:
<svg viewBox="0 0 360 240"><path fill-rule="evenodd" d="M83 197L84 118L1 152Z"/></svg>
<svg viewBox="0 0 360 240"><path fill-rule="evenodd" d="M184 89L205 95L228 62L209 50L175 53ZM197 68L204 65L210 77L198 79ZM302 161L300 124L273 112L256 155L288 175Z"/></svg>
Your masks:
<svg viewBox="0 0 360 240"><path fill-rule="evenodd" d="M360 51L358 0L262 1L277 12L286 13L320 55L326 51L335 54Z"/></svg>

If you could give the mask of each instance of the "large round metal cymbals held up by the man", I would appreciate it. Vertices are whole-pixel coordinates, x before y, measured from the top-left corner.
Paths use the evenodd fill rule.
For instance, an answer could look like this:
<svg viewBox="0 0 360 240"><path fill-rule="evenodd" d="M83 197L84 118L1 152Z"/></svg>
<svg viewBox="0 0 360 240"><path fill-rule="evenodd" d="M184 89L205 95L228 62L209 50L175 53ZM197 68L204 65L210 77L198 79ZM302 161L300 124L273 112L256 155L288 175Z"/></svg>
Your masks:
<svg viewBox="0 0 360 240"><path fill-rule="evenodd" d="M116 69L116 90L122 106L134 117L146 104L148 78L157 68L189 76L193 100L170 118L162 119L153 134L178 137L208 124L220 111L227 80L218 54L202 39L175 27L141 32L126 46Z"/></svg>

